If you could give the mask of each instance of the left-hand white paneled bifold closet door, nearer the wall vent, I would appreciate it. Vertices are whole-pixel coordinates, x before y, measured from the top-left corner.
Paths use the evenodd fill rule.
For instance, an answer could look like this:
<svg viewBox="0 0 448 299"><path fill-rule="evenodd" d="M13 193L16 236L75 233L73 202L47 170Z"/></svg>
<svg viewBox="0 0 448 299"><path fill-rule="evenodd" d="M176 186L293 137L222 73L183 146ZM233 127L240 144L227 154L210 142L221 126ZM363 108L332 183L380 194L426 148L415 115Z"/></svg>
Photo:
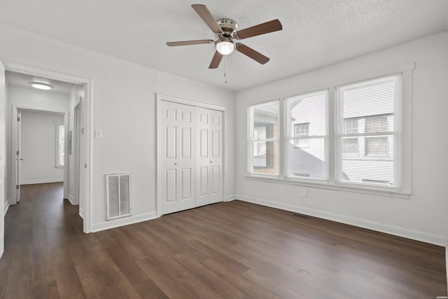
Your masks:
<svg viewBox="0 0 448 299"><path fill-rule="evenodd" d="M195 107L159 104L160 211L169 214L196 207Z"/></svg>

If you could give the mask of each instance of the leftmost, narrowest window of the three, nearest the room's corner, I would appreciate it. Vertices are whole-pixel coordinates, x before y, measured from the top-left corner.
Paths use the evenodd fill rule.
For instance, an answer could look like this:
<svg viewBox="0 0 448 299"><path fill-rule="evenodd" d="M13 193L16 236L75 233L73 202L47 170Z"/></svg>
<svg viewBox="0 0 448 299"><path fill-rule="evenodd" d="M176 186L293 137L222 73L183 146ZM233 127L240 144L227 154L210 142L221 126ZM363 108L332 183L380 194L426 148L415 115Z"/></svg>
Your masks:
<svg viewBox="0 0 448 299"><path fill-rule="evenodd" d="M279 101L250 109L251 163L253 174L279 174Z"/></svg>

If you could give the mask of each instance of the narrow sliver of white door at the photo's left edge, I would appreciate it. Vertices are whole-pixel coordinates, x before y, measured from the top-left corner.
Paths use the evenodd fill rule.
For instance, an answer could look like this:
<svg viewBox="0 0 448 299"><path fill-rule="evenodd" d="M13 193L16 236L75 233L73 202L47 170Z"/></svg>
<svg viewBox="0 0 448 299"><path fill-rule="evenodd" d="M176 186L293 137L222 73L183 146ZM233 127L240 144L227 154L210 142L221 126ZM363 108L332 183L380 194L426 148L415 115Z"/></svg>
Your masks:
<svg viewBox="0 0 448 299"><path fill-rule="evenodd" d="M5 251L5 67L0 62L0 258Z"/></svg>

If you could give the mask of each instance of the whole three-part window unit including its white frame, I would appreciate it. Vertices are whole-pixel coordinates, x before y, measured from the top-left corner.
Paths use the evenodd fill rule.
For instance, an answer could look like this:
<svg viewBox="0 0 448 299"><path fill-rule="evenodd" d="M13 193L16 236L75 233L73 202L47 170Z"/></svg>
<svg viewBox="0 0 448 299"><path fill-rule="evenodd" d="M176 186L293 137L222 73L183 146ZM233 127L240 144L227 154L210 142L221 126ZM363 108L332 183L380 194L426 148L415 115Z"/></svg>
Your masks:
<svg viewBox="0 0 448 299"><path fill-rule="evenodd" d="M248 179L409 198L412 69L249 106Z"/></svg>

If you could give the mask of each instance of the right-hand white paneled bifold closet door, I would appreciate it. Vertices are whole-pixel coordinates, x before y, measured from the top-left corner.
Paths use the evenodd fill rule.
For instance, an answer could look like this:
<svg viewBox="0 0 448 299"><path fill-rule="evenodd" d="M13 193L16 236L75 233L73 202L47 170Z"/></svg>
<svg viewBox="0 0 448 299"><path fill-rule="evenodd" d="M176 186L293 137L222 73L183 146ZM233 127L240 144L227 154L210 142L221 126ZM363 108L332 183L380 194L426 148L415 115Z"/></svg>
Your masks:
<svg viewBox="0 0 448 299"><path fill-rule="evenodd" d="M223 111L196 108L196 206L223 201Z"/></svg>

